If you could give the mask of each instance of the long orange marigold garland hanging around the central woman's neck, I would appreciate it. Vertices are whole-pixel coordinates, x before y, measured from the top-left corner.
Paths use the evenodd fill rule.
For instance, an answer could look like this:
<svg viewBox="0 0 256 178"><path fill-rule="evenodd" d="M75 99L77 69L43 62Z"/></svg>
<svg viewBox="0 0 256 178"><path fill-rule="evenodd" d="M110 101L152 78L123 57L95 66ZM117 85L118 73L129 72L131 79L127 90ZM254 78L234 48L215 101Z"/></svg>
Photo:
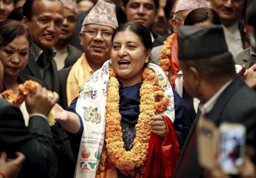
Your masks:
<svg viewBox="0 0 256 178"><path fill-rule="evenodd" d="M126 151L120 126L119 82L116 77L113 68L110 67L105 128L108 161L124 175L141 176L145 173L145 162L147 160L150 139L151 126L149 114L163 112L168 105L169 99L164 96L164 90L158 84L156 73L145 68L142 71L143 82L139 93L140 114L135 127L136 138L133 142L133 148L130 151Z"/></svg>

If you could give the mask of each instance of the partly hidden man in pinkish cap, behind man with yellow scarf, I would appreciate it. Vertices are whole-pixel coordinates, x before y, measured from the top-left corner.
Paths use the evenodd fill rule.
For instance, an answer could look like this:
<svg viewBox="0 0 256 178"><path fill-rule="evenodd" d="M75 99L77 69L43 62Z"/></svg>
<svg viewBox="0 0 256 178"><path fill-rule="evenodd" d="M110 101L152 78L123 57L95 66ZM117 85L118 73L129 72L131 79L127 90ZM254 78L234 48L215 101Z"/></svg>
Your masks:
<svg viewBox="0 0 256 178"><path fill-rule="evenodd" d="M60 0L62 6L64 7L64 21L62 24L61 35L53 45L53 50L56 52L54 57L57 69L61 70L66 67L70 67L69 56L71 55L82 55L82 51L73 45L68 44L70 37L75 32L75 26L77 22L77 3L74 0Z"/></svg>

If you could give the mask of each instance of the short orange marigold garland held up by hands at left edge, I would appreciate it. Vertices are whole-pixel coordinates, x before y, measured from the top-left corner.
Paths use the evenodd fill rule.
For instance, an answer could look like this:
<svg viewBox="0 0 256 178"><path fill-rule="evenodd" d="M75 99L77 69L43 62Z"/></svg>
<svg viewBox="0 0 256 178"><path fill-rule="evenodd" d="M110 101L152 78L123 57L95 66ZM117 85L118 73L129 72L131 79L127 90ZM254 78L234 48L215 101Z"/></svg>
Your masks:
<svg viewBox="0 0 256 178"><path fill-rule="evenodd" d="M23 103L28 93L36 92L37 86L39 86L38 82L28 80L28 81L25 81L23 84L18 85L18 91L19 91L18 95L14 94L11 89L3 91L1 95L8 102L12 103L14 106L19 108L19 106ZM47 90L47 92L48 92L48 95L52 95L52 92L50 90ZM49 115L47 116L47 121L50 126L53 126L56 122L53 116L54 116L54 113L53 113L53 110L51 110Z"/></svg>

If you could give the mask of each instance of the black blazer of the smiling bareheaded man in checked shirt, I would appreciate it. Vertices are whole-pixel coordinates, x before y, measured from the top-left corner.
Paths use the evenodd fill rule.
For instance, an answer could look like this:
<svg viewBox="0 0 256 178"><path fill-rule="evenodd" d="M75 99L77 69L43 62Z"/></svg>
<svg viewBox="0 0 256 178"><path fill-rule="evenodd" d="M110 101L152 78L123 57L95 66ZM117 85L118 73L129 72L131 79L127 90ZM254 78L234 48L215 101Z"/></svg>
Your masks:
<svg viewBox="0 0 256 178"><path fill-rule="evenodd" d="M57 70L56 62L54 60L51 60L50 69L53 71L53 91L59 94L60 85L59 85L58 70ZM36 61L33 58L33 55L31 54L31 52L29 53L28 63L24 68L24 70L21 71L21 73L26 75L31 75L35 78L38 78L42 82L44 82L44 80L40 75L39 68L37 67Z"/></svg>

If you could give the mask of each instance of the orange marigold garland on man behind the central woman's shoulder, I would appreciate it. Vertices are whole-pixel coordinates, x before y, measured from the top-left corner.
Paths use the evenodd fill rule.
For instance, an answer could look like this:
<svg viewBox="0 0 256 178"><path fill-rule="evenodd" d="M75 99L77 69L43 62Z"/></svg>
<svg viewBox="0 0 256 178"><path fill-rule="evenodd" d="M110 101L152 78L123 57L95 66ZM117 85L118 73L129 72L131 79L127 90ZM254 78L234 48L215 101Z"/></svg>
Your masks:
<svg viewBox="0 0 256 178"><path fill-rule="evenodd" d="M159 66L164 71L164 73L167 77L169 76L169 69L171 67L170 59L172 58L172 56L171 56L172 42L173 42L173 38L174 38L175 34L176 33L173 33L170 36L168 36L166 41L164 41L163 49L161 49L161 51L160 51Z"/></svg>

